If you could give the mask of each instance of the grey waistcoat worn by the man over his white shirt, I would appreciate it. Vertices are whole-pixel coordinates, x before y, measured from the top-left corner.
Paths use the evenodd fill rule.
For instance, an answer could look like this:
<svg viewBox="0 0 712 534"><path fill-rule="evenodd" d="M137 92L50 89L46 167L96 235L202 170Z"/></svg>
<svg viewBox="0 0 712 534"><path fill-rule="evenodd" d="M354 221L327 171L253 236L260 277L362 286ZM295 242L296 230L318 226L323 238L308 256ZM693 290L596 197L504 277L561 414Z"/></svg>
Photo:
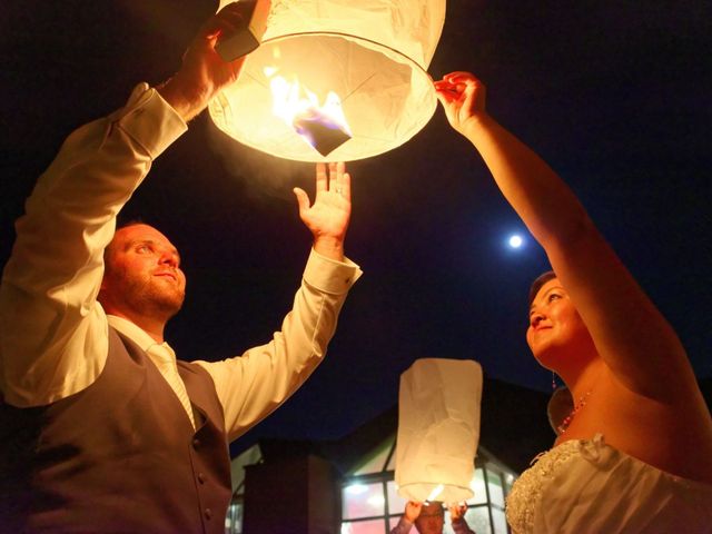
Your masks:
<svg viewBox="0 0 712 534"><path fill-rule="evenodd" d="M222 534L222 407L205 369L178 370L197 432L146 353L113 328L91 386L37 408L0 402L0 532Z"/></svg>

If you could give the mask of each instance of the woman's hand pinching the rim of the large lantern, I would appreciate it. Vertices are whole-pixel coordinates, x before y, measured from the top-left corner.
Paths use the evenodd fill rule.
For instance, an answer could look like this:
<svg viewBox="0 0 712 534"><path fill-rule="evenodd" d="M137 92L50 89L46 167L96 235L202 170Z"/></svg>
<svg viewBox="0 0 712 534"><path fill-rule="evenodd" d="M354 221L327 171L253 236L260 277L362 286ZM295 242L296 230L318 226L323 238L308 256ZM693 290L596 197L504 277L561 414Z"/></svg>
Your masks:
<svg viewBox="0 0 712 534"><path fill-rule="evenodd" d="M485 86L469 72L445 75L435 82L435 95L451 126L465 137L486 116Z"/></svg>

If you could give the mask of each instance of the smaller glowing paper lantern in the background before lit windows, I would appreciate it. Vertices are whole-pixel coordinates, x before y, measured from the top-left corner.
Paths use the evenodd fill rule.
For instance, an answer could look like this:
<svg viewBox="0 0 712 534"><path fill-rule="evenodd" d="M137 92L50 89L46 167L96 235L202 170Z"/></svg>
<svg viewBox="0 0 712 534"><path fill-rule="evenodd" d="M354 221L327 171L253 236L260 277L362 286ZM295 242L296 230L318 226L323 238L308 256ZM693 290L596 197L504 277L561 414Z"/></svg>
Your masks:
<svg viewBox="0 0 712 534"><path fill-rule="evenodd" d="M482 367L473 360L423 358L400 375L395 479L402 497L473 496L481 399Z"/></svg>

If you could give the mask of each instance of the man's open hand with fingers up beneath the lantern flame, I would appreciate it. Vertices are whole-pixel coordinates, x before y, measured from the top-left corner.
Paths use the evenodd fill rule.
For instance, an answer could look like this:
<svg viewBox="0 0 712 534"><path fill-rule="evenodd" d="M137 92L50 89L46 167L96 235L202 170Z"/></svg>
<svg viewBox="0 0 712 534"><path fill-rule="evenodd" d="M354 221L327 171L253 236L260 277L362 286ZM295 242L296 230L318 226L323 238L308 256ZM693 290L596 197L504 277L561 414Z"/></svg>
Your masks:
<svg viewBox="0 0 712 534"><path fill-rule="evenodd" d="M329 164L328 176L324 164L316 165L316 198L294 188L299 205L299 217L314 235L314 249L327 258L344 260L344 238L352 214L352 182L344 164Z"/></svg>

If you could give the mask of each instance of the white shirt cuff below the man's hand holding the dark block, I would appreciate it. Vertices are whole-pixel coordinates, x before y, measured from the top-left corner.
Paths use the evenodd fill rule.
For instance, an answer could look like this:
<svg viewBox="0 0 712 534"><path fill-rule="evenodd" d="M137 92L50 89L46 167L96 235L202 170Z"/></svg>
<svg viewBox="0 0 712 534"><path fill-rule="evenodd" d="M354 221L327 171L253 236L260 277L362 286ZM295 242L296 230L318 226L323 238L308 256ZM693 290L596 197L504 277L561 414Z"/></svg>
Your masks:
<svg viewBox="0 0 712 534"><path fill-rule="evenodd" d="M109 120L136 140L151 159L188 129L180 115L145 82L134 88L126 106L109 116Z"/></svg>

